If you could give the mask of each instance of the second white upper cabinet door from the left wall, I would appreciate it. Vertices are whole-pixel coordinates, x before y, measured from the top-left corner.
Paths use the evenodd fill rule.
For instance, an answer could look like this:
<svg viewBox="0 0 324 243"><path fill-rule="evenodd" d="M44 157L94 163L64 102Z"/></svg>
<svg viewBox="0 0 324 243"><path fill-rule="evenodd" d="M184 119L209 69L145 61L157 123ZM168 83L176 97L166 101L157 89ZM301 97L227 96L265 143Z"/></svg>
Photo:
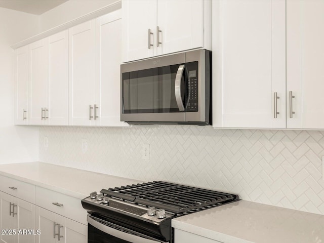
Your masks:
<svg viewBox="0 0 324 243"><path fill-rule="evenodd" d="M28 46L29 56L29 124L41 125L42 108L46 107L47 83L49 80L48 37ZM43 113L44 115L44 113Z"/></svg>

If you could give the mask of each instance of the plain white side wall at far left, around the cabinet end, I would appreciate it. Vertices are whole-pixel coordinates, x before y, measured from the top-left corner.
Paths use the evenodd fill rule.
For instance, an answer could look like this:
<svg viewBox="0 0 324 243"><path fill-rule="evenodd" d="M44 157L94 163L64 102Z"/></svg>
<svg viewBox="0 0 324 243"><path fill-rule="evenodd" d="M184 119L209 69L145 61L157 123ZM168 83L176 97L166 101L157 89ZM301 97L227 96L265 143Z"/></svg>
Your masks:
<svg viewBox="0 0 324 243"><path fill-rule="evenodd" d="M38 16L0 8L0 164L38 160L38 128L14 126L14 50L38 32Z"/></svg>

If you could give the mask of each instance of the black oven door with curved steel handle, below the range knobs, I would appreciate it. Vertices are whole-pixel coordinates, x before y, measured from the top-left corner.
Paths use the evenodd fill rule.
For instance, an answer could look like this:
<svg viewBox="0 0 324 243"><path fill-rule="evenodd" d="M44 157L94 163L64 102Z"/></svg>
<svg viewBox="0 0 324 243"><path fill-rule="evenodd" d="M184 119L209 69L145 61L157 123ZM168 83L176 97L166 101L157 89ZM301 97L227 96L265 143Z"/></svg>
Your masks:
<svg viewBox="0 0 324 243"><path fill-rule="evenodd" d="M88 215L88 243L169 243Z"/></svg>

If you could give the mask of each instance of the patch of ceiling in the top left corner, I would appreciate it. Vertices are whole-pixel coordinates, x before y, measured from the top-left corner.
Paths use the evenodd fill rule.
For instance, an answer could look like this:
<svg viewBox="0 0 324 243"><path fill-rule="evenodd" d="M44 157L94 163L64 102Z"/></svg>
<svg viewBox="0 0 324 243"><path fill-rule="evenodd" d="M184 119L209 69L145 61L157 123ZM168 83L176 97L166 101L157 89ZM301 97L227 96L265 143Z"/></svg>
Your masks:
<svg viewBox="0 0 324 243"><path fill-rule="evenodd" d="M0 0L0 8L41 15L68 0Z"/></svg>

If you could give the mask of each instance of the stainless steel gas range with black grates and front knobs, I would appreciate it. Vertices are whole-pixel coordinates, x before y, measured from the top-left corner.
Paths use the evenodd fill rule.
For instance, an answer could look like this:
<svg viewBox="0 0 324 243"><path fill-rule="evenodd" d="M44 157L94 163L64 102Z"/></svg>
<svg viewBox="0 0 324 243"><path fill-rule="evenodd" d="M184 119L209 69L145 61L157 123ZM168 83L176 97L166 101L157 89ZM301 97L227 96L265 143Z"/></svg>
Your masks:
<svg viewBox="0 0 324 243"><path fill-rule="evenodd" d="M88 243L173 243L173 218L236 200L238 195L163 181L102 189L82 200Z"/></svg>

